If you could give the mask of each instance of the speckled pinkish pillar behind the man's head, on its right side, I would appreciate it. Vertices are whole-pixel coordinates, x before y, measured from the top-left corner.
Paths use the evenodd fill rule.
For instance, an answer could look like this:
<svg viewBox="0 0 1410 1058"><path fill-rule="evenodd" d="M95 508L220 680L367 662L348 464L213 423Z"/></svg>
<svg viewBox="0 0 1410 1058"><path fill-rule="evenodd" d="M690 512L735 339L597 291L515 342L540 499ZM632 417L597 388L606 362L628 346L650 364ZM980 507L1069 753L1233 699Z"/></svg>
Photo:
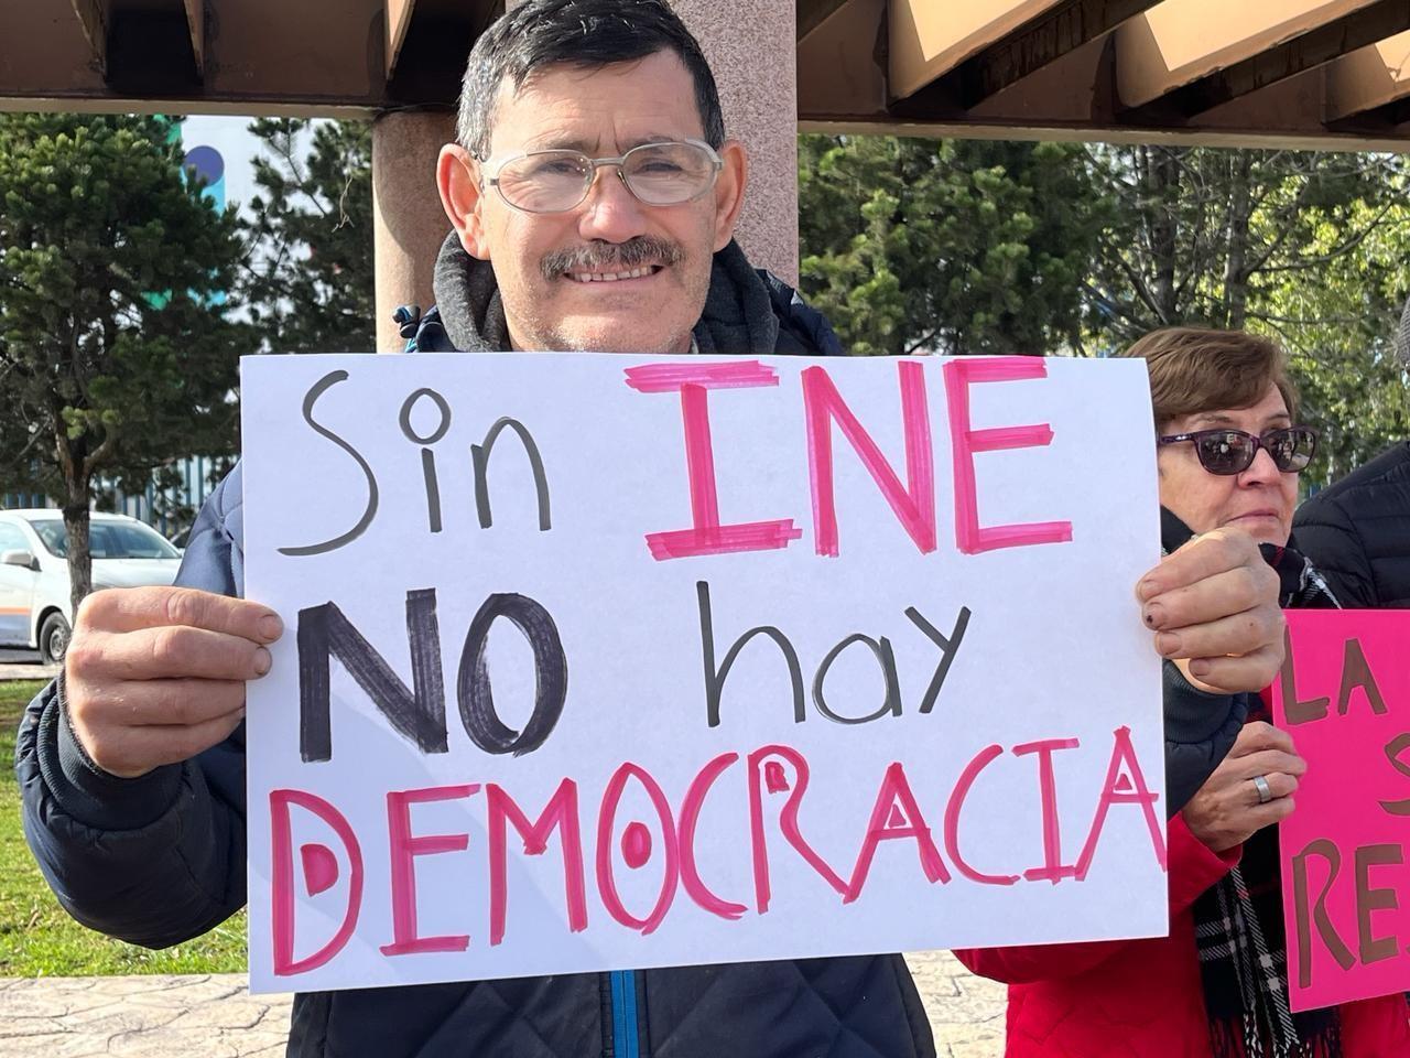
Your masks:
<svg viewBox="0 0 1410 1058"><path fill-rule="evenodd" d="M517 0L508 0L516 7ZM756 268L798 284L795 0L671 0L705 49L725 133L749 150L737 238Z"/></svg>

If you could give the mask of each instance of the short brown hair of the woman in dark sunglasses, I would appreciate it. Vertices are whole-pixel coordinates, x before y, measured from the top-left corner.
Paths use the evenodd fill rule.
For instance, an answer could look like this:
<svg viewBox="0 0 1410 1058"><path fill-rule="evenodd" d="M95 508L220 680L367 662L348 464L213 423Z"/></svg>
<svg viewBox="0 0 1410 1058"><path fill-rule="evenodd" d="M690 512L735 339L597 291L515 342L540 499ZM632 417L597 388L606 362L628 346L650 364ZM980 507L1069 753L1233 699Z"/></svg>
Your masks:
<svg viewBox="0 0 1410 1058"><path fill-rule="evenodd" d="M1217 408L1252 408L1269 385L1297 419L1297 389L1276 341L1245 330L1165 327L1152 330L1122 357L1141 357L1151 371L1156 429Z"/></svg>

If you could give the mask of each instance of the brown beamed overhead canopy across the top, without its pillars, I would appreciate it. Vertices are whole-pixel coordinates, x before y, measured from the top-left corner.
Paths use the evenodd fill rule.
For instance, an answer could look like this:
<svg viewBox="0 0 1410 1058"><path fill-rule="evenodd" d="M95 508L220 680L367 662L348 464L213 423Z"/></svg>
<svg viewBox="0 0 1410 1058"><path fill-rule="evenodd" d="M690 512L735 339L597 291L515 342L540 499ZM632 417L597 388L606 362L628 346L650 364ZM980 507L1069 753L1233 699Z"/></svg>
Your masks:
<svg viewBox="0 0 1410 1058"><path fill-rule="evenodd" d="M805 128L1389 145L1407 0L788 0ZM729 18L729 4L719 4ZM448 106L503 0L0 4L0 107Z"/></svg>

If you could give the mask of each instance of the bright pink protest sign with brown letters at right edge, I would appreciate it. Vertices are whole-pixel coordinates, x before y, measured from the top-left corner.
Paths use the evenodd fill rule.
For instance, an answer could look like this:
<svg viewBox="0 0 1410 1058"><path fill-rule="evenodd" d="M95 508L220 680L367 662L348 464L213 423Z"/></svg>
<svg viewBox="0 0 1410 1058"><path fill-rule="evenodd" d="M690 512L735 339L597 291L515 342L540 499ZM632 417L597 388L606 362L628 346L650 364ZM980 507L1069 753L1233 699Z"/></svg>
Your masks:
<svg viewBox="0 0 1410 1058"><path fill-rule="evenodd" d="M1293 1010L1410 989L1410 611L1287 614L1273 715L1307 760L1280 834Z"/></svg>

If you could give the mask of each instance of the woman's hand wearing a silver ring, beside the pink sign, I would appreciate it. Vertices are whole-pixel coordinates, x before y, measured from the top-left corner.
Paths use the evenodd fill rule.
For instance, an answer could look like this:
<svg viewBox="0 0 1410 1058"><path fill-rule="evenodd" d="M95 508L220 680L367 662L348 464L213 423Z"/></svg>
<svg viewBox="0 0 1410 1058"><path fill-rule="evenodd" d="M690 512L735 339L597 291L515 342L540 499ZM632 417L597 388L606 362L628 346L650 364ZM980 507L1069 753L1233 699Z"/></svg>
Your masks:
<svg viewBox="0 0 1410 1058"><path fill-rule="evenodd" d="M1306 773L1292 735L1263 721L1245 724L1234 749L1184 805L1184 822L1211 851L1225 852L1292 815ZM1268 783L1268 803L1259 801L1255 776Z"/></svg>

